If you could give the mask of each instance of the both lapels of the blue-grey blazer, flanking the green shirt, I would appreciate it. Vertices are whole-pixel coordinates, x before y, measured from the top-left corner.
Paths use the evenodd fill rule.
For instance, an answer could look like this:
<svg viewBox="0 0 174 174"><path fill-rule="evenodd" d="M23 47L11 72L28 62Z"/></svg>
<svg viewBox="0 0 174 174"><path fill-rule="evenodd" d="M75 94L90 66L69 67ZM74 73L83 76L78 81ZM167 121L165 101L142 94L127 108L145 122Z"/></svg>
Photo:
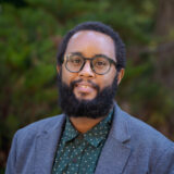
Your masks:
<svg viewBox="0 0 174 174"><path fill-rule="evenodd" d="M49 174L52 171L65 115L62 114L57 117L53 127L45 127L45 130L37 135L35 174ZM121 174L130 154L130 148L127 145L129 139L125 113L115 103L112 127L101 151L95 174Z"/></svg>

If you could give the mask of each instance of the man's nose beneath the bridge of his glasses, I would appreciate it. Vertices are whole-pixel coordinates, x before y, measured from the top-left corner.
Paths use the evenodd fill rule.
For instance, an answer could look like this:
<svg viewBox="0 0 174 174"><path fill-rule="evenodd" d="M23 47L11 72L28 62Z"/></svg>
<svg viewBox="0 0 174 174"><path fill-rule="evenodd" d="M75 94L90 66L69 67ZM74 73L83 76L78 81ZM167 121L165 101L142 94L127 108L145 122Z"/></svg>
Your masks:
<svg viewBox="0 0 174 174"><path fill-rule="evenodd" d="M82 69L82 71L78 73L78 75L80 77L88 77L88 78L92 78L95 77L95 73L92 72L91 67L90 67L90 62L86 61L84 64L84 67Z"/></svg>

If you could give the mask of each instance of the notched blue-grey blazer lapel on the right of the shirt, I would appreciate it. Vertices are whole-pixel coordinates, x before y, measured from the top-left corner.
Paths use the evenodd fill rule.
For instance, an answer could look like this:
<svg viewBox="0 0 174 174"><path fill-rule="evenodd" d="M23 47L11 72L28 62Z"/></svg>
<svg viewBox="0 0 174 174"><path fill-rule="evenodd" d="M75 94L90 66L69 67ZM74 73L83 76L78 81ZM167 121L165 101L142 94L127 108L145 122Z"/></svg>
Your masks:
<svg viewBox="0 0 174 174"><path fill-rule="evenodd" d="M122 174L130 156L130 139L124 112L115 104L113 124L101 151L95 174Z"/></svg>

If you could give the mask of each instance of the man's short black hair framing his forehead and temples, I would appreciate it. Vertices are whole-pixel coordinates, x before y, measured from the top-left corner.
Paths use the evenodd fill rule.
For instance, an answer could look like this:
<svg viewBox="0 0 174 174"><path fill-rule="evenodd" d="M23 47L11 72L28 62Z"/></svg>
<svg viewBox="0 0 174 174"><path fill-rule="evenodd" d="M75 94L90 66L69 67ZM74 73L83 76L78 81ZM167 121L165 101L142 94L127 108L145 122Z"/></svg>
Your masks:
<svg viewBox="0 0 174 174"><path fill-rule="evenodd" d="M110 36L114 41L115 47L115 58L117 61L117 70L125 69L126 64L126 51L125 51L125 45L123 44L121 37L116 32L114 32L110 26L101 23L101 22L85 22L80 23L79 25L75 26L73 29L71 29L63 38L63 40L60 44L57 61L58 64L61 65L63 63L64 59L64 52L66 50L69 40L71 37L80 30L95 30L99 33L103 33L108 36Z"/></svg>

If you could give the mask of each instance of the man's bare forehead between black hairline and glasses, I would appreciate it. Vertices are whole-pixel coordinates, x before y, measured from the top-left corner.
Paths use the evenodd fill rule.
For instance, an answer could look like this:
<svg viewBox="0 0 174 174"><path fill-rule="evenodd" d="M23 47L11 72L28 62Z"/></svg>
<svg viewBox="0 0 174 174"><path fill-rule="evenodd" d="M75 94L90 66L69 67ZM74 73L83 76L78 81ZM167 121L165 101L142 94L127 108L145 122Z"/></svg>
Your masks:
<svg viewBox="0 0 174 174"><path fill-rule="evenodd" d="M80 52L85 57L105 54L115 60L115 47L113 39L102 33L82 30L74 34L66 47L65 53Z"/></svg>

